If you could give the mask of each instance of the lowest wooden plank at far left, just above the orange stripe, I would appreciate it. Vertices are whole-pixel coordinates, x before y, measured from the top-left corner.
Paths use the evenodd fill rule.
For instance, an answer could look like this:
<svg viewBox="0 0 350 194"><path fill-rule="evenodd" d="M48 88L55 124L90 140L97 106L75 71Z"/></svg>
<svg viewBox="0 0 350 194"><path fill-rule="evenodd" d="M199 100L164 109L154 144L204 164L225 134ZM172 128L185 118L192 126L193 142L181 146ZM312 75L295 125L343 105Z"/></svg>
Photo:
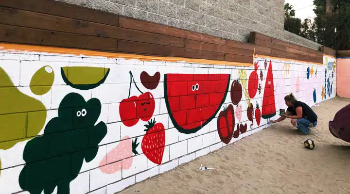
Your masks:
<svg viewBox="0 0 350 194"><path fill-rule="evenodd" d="M117 51L118 40L0 24L0 41L7 43Z"/></svg>

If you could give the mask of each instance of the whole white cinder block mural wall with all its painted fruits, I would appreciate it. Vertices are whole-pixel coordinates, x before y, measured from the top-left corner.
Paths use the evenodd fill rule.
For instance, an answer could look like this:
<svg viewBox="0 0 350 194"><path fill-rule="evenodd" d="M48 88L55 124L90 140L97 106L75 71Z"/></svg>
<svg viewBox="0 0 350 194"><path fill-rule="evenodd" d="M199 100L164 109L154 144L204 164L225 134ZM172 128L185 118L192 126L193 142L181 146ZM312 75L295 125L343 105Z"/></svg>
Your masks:
<svg viewBox="0 0 350 194"><path fill-rule="evenodd" d="M0 53L0 193L113 194L335 97L336 63Z"/></svg>

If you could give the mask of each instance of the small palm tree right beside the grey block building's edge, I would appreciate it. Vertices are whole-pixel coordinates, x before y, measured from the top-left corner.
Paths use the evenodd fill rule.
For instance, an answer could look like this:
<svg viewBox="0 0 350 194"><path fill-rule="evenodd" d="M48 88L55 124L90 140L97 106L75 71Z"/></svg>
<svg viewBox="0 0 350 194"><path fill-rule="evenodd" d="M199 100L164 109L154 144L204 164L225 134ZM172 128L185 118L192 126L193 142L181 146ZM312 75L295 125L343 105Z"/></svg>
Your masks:
<svg viewBox="0 0 350 194"><path fill-rule="evenodd" d="M284 30L300 35L301 20L295 17L295 10L289 3L284 4Z"/></svg>

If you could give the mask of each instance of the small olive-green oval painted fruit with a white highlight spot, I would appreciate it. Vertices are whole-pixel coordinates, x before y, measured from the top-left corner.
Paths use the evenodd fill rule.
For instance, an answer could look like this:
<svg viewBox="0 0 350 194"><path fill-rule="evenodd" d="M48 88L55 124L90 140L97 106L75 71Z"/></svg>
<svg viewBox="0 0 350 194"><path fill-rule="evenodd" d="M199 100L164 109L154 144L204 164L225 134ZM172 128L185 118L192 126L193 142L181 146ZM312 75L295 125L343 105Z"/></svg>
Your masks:
<svg viewBox="0 0 350 194"><path fill-rule="evenodd" d="M43 66L32 77L30 88L36 95L44 95L51 90L54 80L54 72L51 66Z"/></svg>

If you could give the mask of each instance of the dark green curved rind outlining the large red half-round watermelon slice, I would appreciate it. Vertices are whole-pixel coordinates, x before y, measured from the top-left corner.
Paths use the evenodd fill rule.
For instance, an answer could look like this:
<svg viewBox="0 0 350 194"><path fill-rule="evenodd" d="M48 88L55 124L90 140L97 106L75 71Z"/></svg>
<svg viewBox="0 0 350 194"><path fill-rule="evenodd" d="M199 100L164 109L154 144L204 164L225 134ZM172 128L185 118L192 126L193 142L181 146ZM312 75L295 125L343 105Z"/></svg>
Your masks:
<svg viewBox="0 0 350 194"><path fill-rule="evenodd" d="M225 75L225 74L222 74L222 75ZM180 133L185 133L185 134L191 134L191 133L195 133L197 132L199 129L202 129L204 126L206 126L208 123L210 123L210 121L215 118L215 115L220 111L221 109L221 106L224 104L225 102L225 99L227 97L227 92L228 92L228 88L229 88L229 85L230 85L230 82L231 82L231 74L228 74L228 81L227 81L227 87L226 87L226 92L225 92L225 95L223 97L223 99L221 100L221 103L218 107L218 109L215 111L215 113L206 121L204 122L201 126L198 126L196 128L193 128L193 129L183 129L181 126L179 126L177 124L177 122L175 121L174 117L173 117L173 113L171 112L170 110L170 106L169 106L169 101L168 101L168 88L167 88L167 74L164 74L164 99L165 99L165 105L167 107L167 110L168 110L168 113L169 113L169 116L170 116L170 119L171 121L173 122L173 125L174 127L180 132Z"/></svg>

